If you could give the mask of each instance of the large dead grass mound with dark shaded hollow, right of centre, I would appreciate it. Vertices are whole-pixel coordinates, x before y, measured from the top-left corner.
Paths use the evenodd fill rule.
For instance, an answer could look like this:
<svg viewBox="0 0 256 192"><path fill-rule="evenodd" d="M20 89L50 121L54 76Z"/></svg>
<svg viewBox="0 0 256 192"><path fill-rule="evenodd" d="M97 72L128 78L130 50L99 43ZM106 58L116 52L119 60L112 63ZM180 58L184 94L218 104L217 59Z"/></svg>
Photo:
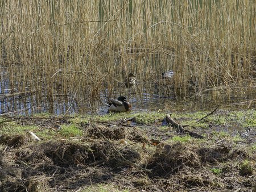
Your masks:
<svg viewBox="0 0 256 192"><path fill-rule="evenodd" d="M147 169L152 170L152 177L168 177L184 166L197 167L201 162L196 149L183 143L164 145L162 152L156 152L148 162Z"/></svg>

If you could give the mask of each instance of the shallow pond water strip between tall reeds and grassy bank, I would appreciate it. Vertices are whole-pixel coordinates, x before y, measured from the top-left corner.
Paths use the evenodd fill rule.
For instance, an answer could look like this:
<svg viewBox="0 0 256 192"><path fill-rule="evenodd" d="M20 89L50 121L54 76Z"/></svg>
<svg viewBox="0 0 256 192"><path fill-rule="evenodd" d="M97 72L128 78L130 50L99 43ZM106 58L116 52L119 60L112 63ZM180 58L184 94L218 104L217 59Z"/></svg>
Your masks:
<svg viewBox="0 0 256 192"><path fill-rule="evenodd" d="M127 89L122 85L115 90L104 89L97 98L90 98L90 95L70 94L63 96L62 93L55 93L54 99L47 97L46 91L38 93L27 91L18 94L8 89L9 82L1 80L0 92L0 114L30 115L34 113L49 112L54 115L60 114L106 114L108 111L108 97L117 98L125 96L132 105L132 112L138 111L211 111L218 108L229 108L240 110L242 108L255 108L256 88L250 87L243 91L229 87L215 87L214 89L201 90L196 93L191 90L188 97L175 98L174 89L170 85L159 85L156 82L143 83L137 81L137 86ZM227 94L227 91L229 93ZM229 95L227 97L226 95ZM39 98L40 97L40 98Z"/></svg>

